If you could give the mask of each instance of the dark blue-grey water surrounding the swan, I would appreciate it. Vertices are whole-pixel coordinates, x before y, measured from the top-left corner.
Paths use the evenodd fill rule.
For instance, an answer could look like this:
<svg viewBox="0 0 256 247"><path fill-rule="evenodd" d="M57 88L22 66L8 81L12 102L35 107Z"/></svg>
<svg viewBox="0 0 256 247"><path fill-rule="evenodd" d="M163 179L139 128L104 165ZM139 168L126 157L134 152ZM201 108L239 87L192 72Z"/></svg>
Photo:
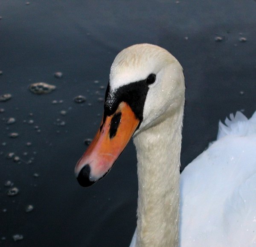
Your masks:
<svg viewBox="0 0 256 247"><path fill-rule="evenodd" d="M253 0L1 0L0 95L12 99L0 102L0 246L128 246L137 208L132 142L94 186L80 187L73 174L84 139L99 127L101 86L113 59L126 46L147 42L183 65L183 169L215 139L219 119L256 109L255 13ZM62 78L53 76L58 71ZM40 81L56 89L31 93L29 85ZM87 101L75 103L78 95ZM16 122L7 125L10 117ZM10 138L12 132L19 136ZM10 152L21 161L7 159ZM4 185L8 180L13 186ZM19 193L10 197L12 187ZM14 241L16 234L23 240Z"/></svg>

